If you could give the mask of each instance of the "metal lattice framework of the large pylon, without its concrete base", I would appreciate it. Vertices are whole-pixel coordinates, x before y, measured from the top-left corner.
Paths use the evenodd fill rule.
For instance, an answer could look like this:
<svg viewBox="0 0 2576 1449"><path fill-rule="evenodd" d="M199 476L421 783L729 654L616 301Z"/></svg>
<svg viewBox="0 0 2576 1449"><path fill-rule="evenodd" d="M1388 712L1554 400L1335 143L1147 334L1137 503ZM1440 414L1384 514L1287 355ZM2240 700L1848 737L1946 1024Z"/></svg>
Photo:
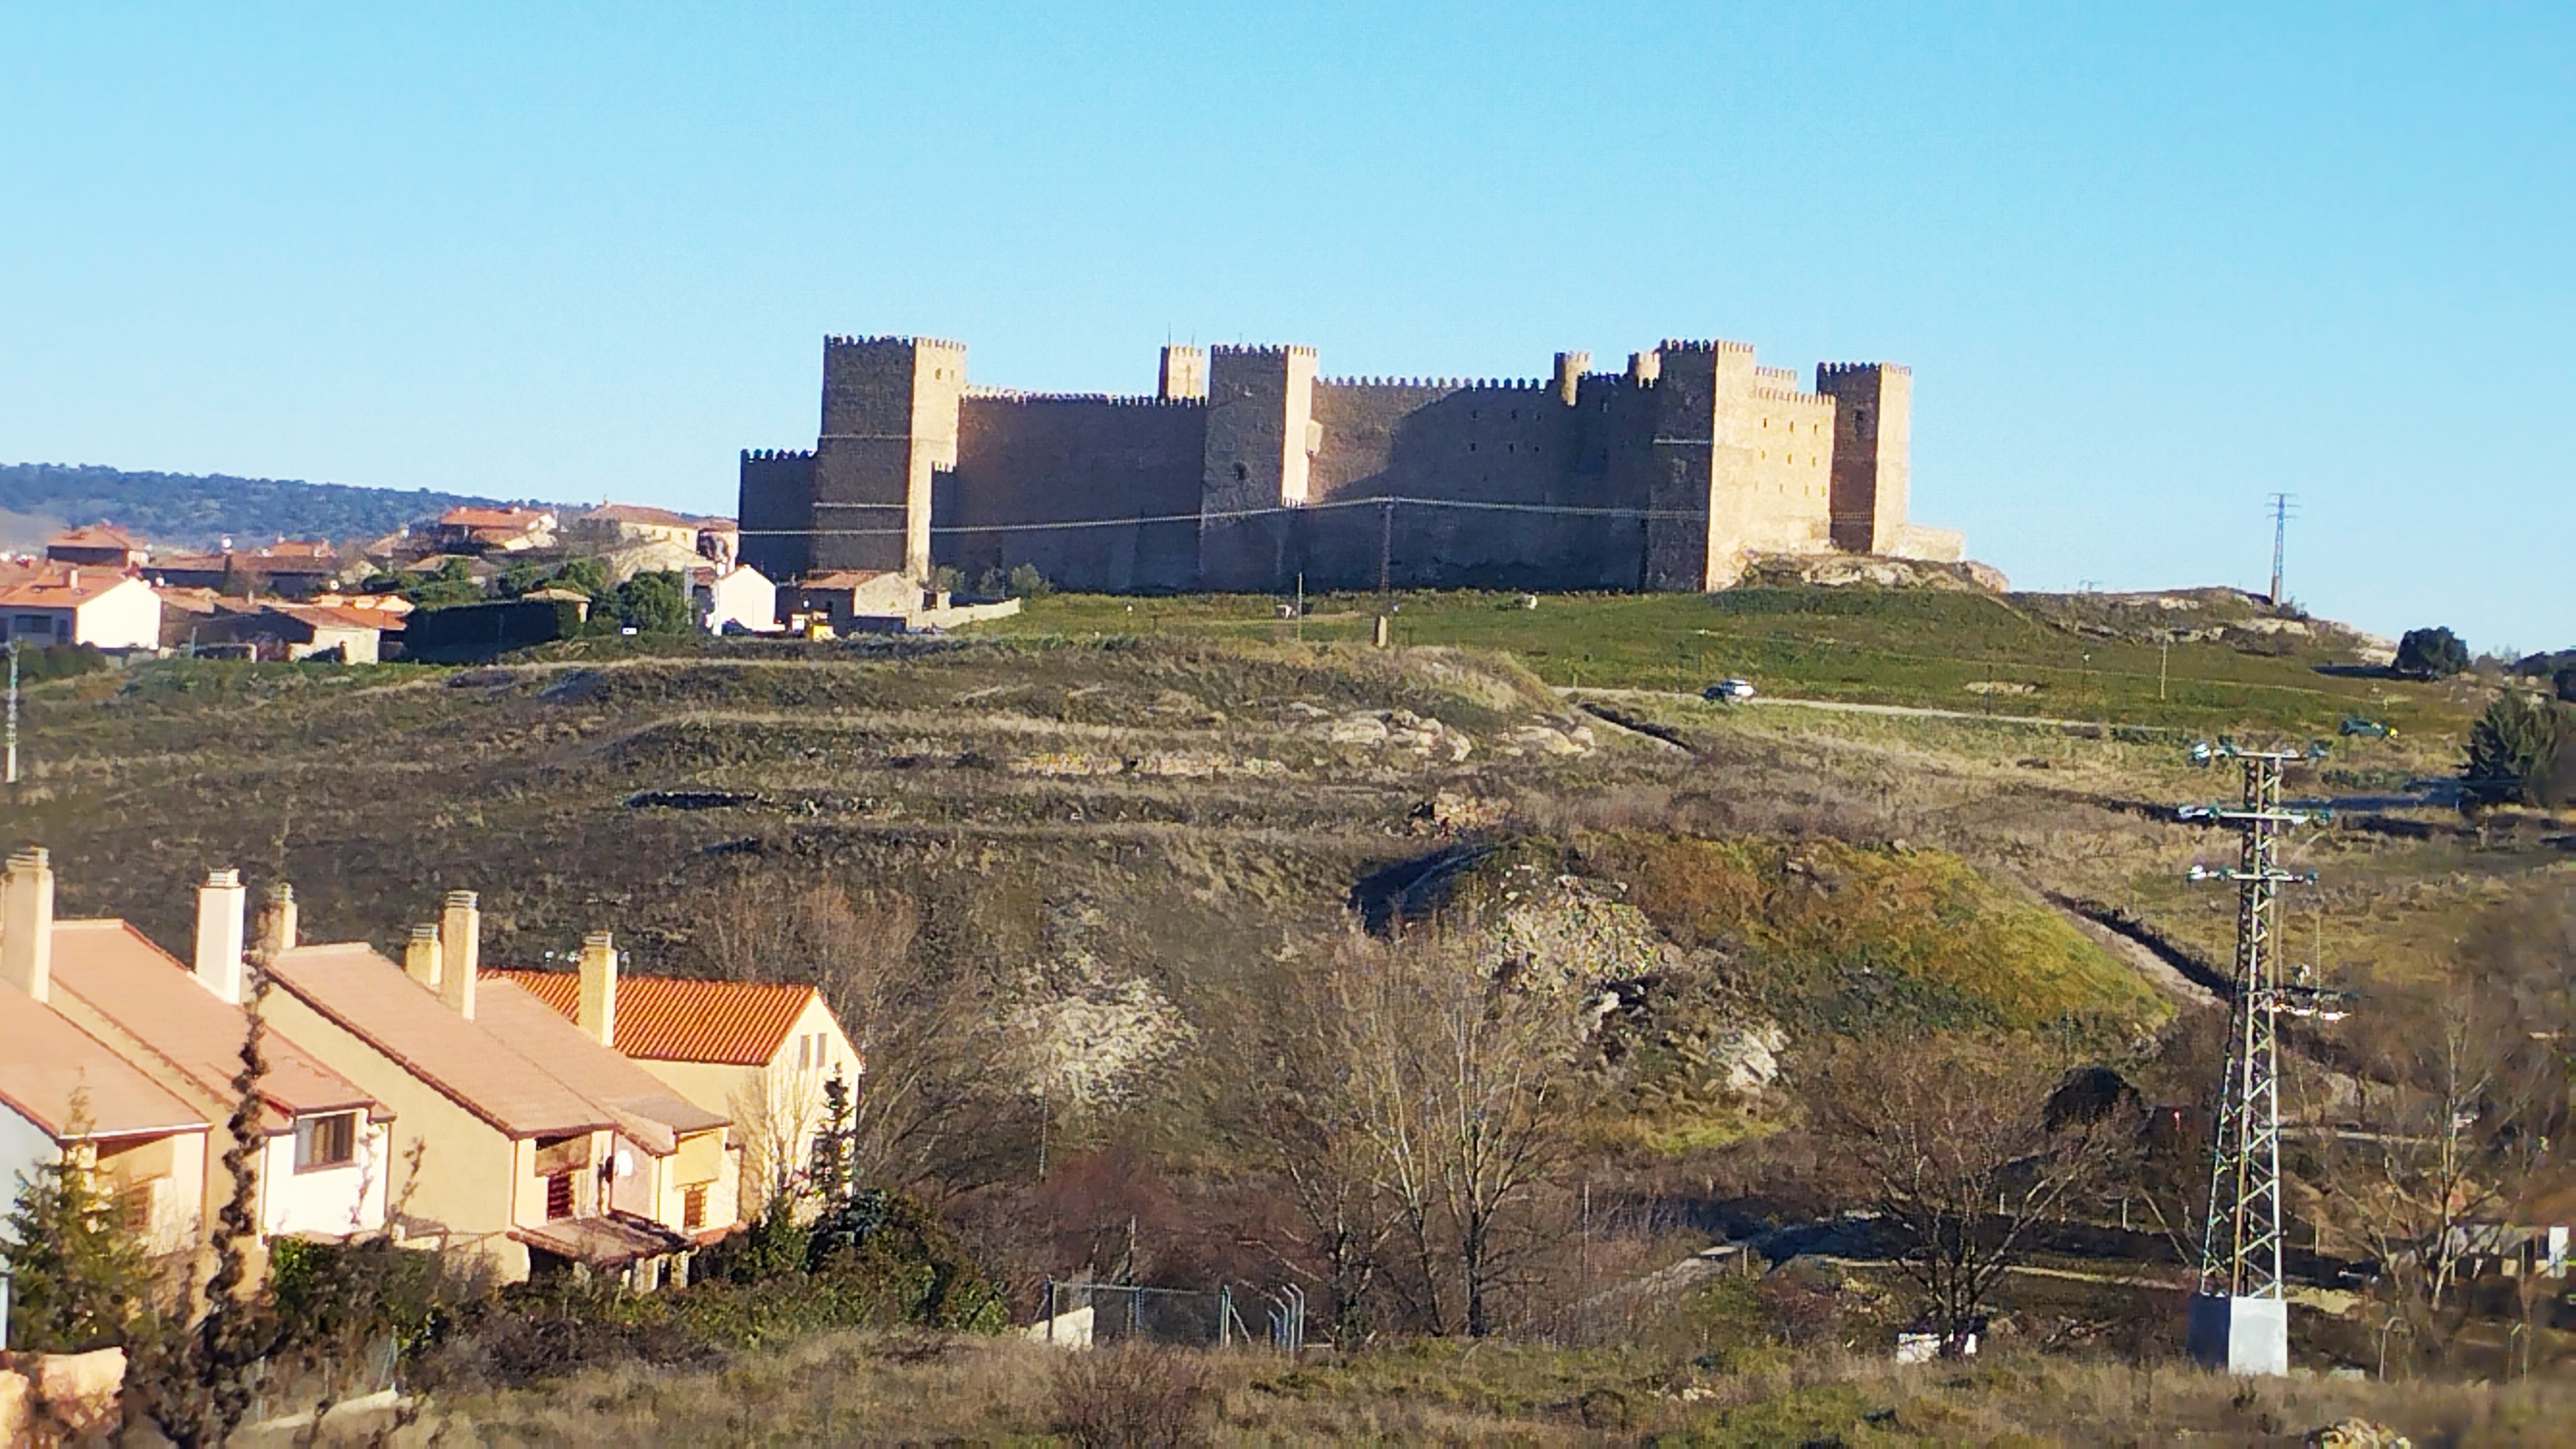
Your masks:
<svg viewBox="0 0 2576 1449"><path fill-rule="evenodd" d="M2200 1232L2200 1292L2226 1297L2280 1297L2280 887L2308 879L2280 869L2280 833L2311 820L2280 807L2280 766L2295 750L2239 750L2215 745L2200 758L2226 755L2244 766L2244 807L2208 807L2190 815L2236 828L2236 869L2192 879L2236 882L2236 1003L2228 1031L2228 1075L2218 1098L2210 1147L2210 1217Z"/></svg>

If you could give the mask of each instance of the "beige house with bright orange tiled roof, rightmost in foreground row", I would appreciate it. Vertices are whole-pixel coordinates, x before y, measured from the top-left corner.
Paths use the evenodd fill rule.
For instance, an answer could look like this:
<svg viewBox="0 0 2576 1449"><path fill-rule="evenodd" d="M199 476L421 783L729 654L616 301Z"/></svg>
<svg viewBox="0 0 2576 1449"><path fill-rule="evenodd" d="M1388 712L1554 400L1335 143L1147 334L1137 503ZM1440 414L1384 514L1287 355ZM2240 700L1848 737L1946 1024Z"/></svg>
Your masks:
<svg viewBox="0 0 2576 1449"><path fill-rule="evenodd" d="M734 1122L742 1209L804 1181L822 1129L822 1085L858 1091L866 1070L850 1034L809 985L629 977L605 936L582 946L577 972L495 969L585 1036L613 1042L680 1096Z"/></svg>

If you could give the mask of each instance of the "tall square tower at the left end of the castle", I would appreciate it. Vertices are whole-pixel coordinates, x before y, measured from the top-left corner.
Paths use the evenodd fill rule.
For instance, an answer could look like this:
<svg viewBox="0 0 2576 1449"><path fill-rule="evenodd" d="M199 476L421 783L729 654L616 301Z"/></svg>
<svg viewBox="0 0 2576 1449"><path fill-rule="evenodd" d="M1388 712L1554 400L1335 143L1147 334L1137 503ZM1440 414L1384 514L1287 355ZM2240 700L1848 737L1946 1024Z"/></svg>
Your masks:
<svg viewBox="0 0 2576 1449"><path fill-rule="evenodd" d="M824 340L809 567L930 578L930 480L956 469L963 394L963 343Z"/></svg>

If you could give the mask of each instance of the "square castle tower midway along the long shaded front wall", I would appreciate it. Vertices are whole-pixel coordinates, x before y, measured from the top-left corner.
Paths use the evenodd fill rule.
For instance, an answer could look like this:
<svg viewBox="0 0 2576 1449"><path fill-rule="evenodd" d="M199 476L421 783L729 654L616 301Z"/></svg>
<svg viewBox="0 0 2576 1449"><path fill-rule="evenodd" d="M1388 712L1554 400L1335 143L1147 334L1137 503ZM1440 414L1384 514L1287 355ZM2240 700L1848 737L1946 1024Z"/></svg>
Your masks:
<svg viewBox="0 0 2576 1449"><path fill-rule="evenodd" d="M1309 464L1321 441L1314 348L1208 348L1200 588L1267 590L1285 583L1296 570L1293 529L1275 511L1306 503Z"/></svg>

